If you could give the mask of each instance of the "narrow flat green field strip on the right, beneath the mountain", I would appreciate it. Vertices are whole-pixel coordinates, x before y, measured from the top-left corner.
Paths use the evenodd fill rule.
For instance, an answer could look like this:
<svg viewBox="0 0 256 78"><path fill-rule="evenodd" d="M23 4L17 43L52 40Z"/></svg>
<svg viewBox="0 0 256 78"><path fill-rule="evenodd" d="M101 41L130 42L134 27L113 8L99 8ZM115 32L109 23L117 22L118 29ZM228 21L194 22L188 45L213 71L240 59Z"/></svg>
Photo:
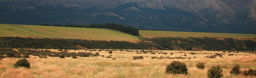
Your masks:
<svg viewBox="0 0 256 78"><path fill-rule="evenodd" d="M144 37L256 37L256 34L228 34L228 33L204 33L204 32L170 32L139 30L139 34Z"/></svg>

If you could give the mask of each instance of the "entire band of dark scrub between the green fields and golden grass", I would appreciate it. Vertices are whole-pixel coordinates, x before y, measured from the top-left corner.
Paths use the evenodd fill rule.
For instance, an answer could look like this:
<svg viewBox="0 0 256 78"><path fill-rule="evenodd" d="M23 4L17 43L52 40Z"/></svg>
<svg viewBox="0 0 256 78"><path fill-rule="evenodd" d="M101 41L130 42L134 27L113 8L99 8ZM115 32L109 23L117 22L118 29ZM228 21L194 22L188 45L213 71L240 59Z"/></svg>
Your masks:
<svg viewBox="0 0 256 78"><path fill-rule="evenodd" d="M174 47L184 50L192 50L198 47L204 50L237 50L237 51L253 51L256 48L255 41L250 40L234 40L225 38L219 40L214 37L156 37L145 38L139 37L142 41L131 43L127 41L88 41L81 39L50 39L50 38L23 38L23 37L0 37L0 48L45 48L45 49L78 49L75 45L80 45L87 48L95 49L138 49L149 50L150 47L158 48L159 50L174 50ZM166 43L171 41L181 41L182 43ZM227 44L226 44L227 43ZM245 47L243 47L245 45ZM11 50L9 50L11 51ZM148 53L147 51L141 51ZM15 55L7 55L13 57Z"/></svg>

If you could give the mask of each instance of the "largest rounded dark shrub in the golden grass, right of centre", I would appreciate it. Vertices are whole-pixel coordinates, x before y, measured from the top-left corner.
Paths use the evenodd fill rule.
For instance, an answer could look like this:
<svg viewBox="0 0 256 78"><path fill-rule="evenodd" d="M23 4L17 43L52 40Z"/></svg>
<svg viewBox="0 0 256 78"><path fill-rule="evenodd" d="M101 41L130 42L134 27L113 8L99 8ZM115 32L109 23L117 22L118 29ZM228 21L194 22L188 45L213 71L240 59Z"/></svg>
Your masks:
<svg viewBox="0 0 256 78"><path fill-rule="evenodd" d="M165 73L167 74L187 74L187 66L185 63L173 61L166 67Z"/></svg>

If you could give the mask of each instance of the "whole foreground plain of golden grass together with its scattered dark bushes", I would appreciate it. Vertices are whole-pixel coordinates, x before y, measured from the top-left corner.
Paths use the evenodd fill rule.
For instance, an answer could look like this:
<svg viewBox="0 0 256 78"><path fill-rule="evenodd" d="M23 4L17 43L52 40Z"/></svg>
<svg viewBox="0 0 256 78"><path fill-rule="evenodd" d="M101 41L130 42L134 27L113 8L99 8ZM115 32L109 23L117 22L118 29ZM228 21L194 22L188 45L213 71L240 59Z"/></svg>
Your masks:
<svg viewBox="0 0 256 78"><path fill-rule="evenodd" d="M218 78L223 74L222 76L226 78L253 78L255 72L253 62L256 61L255 54L251 52L232 52L234 56L228 56L228 52L224 54L222 51L143 50L146 53L142 53L141 50L122 49L76 49L67 50L68 52L64 51L66 49L58 50L0 48L0 57L2 57L0 77L207 78L209 76L209 78ZM109 54L109 51L113 53ZM192 52L195 54L190 54ZM173 55L170 55L171 53ZM8 54L9 56L20 55L22 58L28 55L30 58L26 59L30 62L30 69L14 67L17 60L21 58L6 57ZM59 58L61 55L65 58ZM210 57L210 55L215 55L216 58L204 57ZM219 55L222 57L220 58ZM39 56L48 58L38 58ZM75 56L76 59L74 59ZM134 58L140 60L133 60ZM173 62L170 64L170 61ZM241 68L234 65L239 65ZM243 72L234 75L239 69Z"/></svg>

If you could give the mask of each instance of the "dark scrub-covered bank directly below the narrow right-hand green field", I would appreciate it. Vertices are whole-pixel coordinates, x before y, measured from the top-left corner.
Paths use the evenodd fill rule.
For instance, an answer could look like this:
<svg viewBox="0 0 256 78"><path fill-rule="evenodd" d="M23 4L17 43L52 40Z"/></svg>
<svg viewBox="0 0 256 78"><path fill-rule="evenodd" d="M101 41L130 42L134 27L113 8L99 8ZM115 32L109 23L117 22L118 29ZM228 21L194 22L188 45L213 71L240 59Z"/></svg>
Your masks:
<svg viewBox="0 0 256 78"><path fill-rule="evenodd" d="M203 50L236 50L236 51L253 51L256 48L256 42L252 40L239 40L232 38L224 38L224 40L217 39L217 37L155 37L155 38L146 38L140 37L142 41L151 41L157 43L162 48L168 50L176 50L175 47L180 47L184 50L192 50L192 48L200 47ZM166 43L172 41L181 41L182 43ZM243 45L246 46L243 47ZM179 50L179 49L178 49Z"/></svg>

